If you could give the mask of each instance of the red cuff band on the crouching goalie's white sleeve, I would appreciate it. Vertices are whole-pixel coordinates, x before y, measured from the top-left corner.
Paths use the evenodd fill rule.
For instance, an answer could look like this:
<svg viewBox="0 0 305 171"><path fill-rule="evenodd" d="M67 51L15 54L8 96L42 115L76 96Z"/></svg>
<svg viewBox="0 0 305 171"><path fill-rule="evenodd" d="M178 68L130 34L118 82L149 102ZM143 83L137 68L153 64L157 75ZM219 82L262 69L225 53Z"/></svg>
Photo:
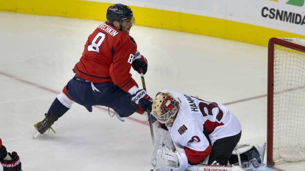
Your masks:
<svg viewBox="0 0 305 171"><path fill-rule="evenodd" d="M204 151L196 151L190 148L185 147L185 154L187 157L187 160L191 163L199 163L202 160L204 160L205 158L208 157L208 155L211 153L212 151L212 147L209 146L206 148L206 150Z"/></svg>

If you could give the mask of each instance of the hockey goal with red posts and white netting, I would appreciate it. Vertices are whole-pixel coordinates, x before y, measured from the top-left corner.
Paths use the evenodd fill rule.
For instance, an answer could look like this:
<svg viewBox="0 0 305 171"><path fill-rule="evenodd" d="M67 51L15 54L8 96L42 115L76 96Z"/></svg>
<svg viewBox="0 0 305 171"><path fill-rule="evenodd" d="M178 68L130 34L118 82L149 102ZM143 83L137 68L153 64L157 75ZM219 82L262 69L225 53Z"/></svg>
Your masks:
<svg viewBox="0 0 305 171"><path fill-rule="evenodd" d="M267 166L305 160L305 39L270 39L267 113Z"/></svg>

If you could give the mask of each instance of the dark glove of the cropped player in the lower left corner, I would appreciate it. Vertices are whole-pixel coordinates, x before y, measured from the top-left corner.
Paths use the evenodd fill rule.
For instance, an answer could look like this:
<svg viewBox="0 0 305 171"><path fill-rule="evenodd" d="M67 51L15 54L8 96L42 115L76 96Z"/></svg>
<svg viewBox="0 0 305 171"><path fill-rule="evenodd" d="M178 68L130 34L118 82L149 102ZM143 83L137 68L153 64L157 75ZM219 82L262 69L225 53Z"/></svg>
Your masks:
<svg viewBox="0 0 305 171"><path fill-rule="evenodd" d="M11 158L11 160L0 160L0 163L3 166L3 171L22 171L21 162L17 152L13 151L12 154L7 153L7 155Z"/></svg>

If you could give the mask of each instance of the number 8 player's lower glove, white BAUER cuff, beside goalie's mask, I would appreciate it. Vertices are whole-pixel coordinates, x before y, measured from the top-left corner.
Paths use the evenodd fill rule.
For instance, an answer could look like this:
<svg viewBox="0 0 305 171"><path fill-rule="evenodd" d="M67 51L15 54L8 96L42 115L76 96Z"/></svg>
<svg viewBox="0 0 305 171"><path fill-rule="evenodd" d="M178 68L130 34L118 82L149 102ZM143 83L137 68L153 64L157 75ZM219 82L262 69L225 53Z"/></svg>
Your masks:
<svg viewBox="0 0 305 171"><path fill-rule="evenodd" d="M142 110L150 111L152 109L152 98L148 96L144 89L137 91L131 96L131 100L138 104Z"/></svg>

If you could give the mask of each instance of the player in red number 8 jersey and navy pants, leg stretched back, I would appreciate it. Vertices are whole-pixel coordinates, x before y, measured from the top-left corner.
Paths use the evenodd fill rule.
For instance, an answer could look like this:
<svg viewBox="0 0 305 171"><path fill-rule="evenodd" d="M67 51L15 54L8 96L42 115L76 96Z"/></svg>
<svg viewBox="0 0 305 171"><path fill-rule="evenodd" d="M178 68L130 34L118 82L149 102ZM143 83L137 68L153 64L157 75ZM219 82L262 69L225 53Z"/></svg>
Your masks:
<svg viewBox="0 0 305 171"><path fill-rule="evenodd" d="M75 76L55 98L46 118L34 124L40 134L50 129L76 102L92 111L93 105L112 108L119 119L134 112L145 112L152 98L129 73L131 67L147 72L146 58L137 51L135 40L129 35L135 23L131 9L114 4L107 9L107 22L99 25L88 37L80 61L74 66ZM122 120L122 119L121 119Z"/></svg>

